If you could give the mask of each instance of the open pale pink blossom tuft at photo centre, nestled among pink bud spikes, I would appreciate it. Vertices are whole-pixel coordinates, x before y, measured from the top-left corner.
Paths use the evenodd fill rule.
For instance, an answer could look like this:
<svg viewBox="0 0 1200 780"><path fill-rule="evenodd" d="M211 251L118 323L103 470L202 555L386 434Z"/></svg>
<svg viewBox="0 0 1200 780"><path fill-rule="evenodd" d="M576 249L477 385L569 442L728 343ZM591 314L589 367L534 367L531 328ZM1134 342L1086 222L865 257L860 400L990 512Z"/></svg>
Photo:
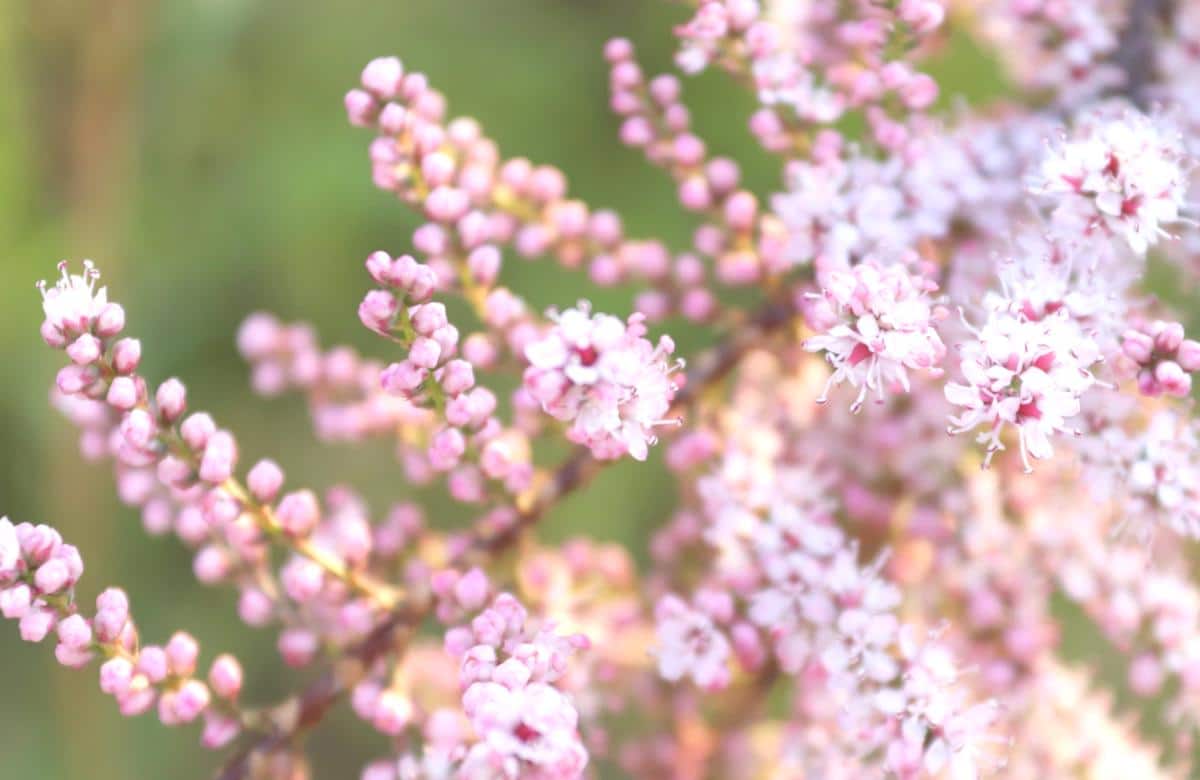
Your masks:
<svg viewBox="0 0 1200 780"><path fill-rule="evenodd" d="M526 389L598 457L628 452L644 461L674 397L674 342L662 336L650 343L637 313L623 323L581 304L553 318L553 328L526 347Z"/></svg>

